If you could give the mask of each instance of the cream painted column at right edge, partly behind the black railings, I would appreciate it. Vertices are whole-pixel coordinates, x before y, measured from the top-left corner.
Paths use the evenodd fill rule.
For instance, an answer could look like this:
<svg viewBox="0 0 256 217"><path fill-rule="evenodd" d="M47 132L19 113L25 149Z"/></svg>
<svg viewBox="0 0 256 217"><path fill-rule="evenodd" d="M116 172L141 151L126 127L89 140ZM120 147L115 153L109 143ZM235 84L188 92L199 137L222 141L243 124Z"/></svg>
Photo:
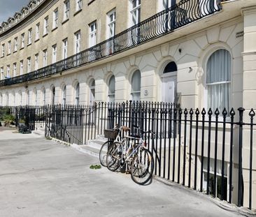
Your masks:
<svg viewBox="0 0 256 217"><path fill-rule="evenodd" d="M243 45L243 114L244 122L250 123L248 113L253 107L256 108L256 7L243 9L244 21L244 45ZM255 111L256 112L256 111ZM250 167L250 129L248 126L243 127L243 182L244 182L244 201L243 206L248 207L249 200L249 171ZM253 204L256 208L256 147L253 137Z"/></svg>

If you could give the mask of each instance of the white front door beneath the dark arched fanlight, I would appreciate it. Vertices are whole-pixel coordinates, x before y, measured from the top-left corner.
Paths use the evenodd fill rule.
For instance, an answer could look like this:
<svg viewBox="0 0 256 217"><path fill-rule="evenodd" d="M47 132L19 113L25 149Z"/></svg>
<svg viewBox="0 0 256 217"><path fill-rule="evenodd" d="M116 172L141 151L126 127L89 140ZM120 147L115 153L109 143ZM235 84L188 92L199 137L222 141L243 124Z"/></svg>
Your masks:
<svg viewBox="0 0 256 217"><path fill-rule="evenodd" d="M174 103L176 98L176 76L162 77L162 101Z"/></svg>

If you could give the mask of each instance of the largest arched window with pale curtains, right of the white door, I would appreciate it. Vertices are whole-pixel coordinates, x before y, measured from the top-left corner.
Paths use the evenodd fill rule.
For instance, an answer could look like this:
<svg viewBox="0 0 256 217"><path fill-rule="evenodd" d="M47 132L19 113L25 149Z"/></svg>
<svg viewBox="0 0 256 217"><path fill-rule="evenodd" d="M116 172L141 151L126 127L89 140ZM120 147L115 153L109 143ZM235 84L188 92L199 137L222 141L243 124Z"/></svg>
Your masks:
<svg viewBox="0 0 256 217"><path fill-rule="evenodd" d="M208 107L224 108L229 111L231 82L231 55L227 50L220 49L211 54L207 62L206 88Z"/></svg>

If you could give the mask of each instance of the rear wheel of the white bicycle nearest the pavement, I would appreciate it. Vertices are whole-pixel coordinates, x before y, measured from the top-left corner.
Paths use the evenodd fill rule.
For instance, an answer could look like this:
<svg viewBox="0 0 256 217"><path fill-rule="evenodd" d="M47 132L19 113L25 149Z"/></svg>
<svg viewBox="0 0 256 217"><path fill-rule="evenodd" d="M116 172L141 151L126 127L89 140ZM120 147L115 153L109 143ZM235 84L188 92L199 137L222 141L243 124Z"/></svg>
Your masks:
<svg viewBox="0 0 256 217"><path fill-rule="evenodd" d="M114 142L108 148L106 156L106 165L108 170L115 171L120 167L120 160L122 158L122 145L118 142Z"/></svg>

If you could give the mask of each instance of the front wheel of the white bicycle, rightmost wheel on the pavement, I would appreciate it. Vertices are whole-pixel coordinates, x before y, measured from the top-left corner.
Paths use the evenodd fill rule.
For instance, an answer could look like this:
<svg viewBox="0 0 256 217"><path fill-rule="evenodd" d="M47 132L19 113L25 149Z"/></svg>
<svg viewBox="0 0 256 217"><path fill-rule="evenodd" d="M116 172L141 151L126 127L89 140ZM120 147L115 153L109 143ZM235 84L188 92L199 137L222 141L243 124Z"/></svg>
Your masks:
<svg viewBox="0 0 256 217"><path fill-rule="evenodd" d="M146 184L154 172L154 160L148 149L140 149L131 161L131 179L139 185Z"/></svg>

